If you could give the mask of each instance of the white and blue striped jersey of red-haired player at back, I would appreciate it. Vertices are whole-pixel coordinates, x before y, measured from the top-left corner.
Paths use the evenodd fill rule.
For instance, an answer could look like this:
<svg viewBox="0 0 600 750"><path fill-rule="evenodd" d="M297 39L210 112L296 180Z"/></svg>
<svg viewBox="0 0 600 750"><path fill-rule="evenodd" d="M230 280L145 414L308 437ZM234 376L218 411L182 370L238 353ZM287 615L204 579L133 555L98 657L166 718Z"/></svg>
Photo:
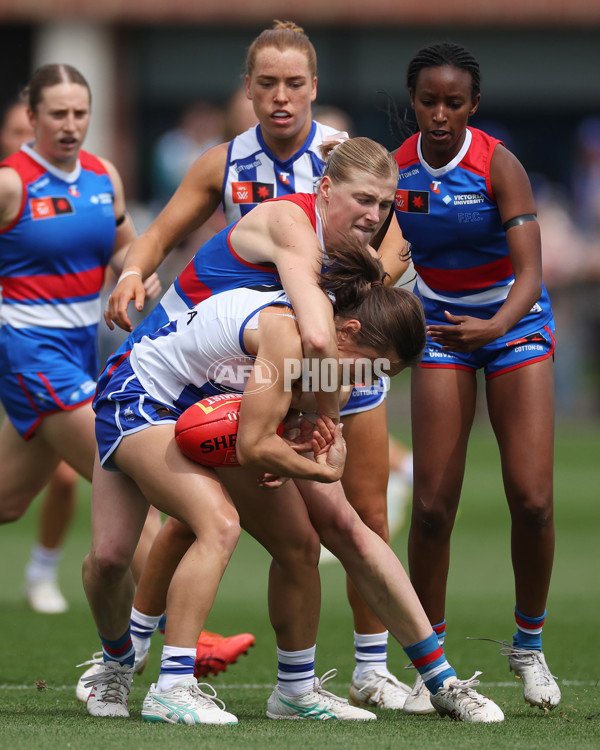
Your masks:
<svg viewBox="0 0 600 750"><path fill-rule="evenodd" d="M236 136L229 144L222 201L227 223L247 214L258 203L290 193L314 193L325 162L319 146L337 132L312 122L304 144L287 161L280 161L266 145L260 125Z"/></svg>

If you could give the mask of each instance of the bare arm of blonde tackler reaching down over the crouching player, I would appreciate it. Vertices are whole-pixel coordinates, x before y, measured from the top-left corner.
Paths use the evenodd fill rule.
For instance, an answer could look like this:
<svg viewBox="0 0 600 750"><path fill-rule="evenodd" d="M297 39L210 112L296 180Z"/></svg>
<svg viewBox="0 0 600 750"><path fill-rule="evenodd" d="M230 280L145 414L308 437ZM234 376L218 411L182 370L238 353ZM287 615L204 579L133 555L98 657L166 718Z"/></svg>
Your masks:
<svg viewBox="0 0 600 750"><path fill-rule="evenodd" d="M323 251L304 211L290 201L263 203L236 225L231 242L245 260L277 266L298 319L304 356L337 362L333 308L319 286ZM319 411L334 422L339 420L339 376L337 382L331 392L316 392Z"/></svg>

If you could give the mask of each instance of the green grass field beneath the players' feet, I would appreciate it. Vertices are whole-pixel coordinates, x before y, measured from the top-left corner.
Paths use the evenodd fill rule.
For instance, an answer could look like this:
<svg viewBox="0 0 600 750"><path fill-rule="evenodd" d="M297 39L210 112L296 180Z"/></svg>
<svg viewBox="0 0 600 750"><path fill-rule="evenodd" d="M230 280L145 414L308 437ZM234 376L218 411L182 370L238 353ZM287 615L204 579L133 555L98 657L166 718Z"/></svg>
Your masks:
<svg viewBox="0 0 600 750"><path fill-rule="evenodd" d="M394 424L392 423L392 427ZM398 431L400 437L406 437ZM130 720L94 719L75 699L75 665L98 648L80 583L87 550L89 490L81 506L61 568L68 613L42 616L29 611L22 592L23 569L35 509L18 524L0 528L0 747L127 748L152 750L185 746L211 748L598 748L600 747L600 429L595 424L561 424L557 434L557 553L544 633L548 661L559 677L562 704L551 714L527 706L518 681L495 644L467 636L507 639L514 629L508 512L500 483L497 451L489 427L477 424L469 455L461 511L453 536L446 652L460 676L483 671L484 692L503 708L500 725L464 725L437 716L407 717L378 711L369 724L273 722L265 704L274 684L274 639L267 619L268 559L244 536L227 570L208 628L231 634L250 631L257 644L247 657L213 684L237 727L196 728L145 725L141 702L158 672L161 637L151 661L136 677ZM394 539L406 559L406 528ZM201 574L201 572L199 573ZM353 667L352 621L338 564L322 566L323 611L317 673L339 672L327 687L346 695ZM393 643L390 666L412 681L400 647ZM408 676L406 676L408 675ZM404 677L403 677L404 676ZM39 690L36 681L47 689Z"/></svg>

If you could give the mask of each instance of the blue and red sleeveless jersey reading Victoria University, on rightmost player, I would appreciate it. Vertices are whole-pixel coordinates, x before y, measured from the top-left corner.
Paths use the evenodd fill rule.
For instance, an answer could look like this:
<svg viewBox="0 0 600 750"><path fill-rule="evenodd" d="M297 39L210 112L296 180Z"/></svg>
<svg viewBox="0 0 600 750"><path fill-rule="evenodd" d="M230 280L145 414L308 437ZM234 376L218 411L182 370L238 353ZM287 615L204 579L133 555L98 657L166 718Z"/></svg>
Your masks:
<svg viewBox="0 0 600 750"><path fill-rule="evenodd" d="M461 151L440 169L425 162L420 143L420 134L414 135L396 152L395 213L410 243L415 291L428 322L447 323L444 310L491 318L515 280L490 181L490 162L500 141L468 128ZM551 323L545 287L530 316L536 328Z"/></svg>

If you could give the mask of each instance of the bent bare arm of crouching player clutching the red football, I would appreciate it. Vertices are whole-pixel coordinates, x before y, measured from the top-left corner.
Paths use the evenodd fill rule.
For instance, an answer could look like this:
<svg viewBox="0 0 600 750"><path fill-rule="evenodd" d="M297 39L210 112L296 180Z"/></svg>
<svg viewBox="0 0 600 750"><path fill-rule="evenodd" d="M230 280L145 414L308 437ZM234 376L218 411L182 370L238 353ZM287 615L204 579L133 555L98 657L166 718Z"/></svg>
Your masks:
<svg viewBox="0 0 600 750"><path fill-rule="evenodd" d="M294 368L301 366L303 357L295 321L278 312L283 310L273 308L261 312L259 329L255 332L256 365L244 390L240 409L236 443L238 460L243 466L252 466L280 477L335 482L342 475L346 455L339 425L329 421L331 443L316 461L298 454L277 434L290 408L291 386L297 377L293 375ZM264 387L261 360L268 361L270 371L278 373L269 388ZM328 428L323 431L327 434ZM322 441L321 437L315 447L321 448Z"/></svg>

